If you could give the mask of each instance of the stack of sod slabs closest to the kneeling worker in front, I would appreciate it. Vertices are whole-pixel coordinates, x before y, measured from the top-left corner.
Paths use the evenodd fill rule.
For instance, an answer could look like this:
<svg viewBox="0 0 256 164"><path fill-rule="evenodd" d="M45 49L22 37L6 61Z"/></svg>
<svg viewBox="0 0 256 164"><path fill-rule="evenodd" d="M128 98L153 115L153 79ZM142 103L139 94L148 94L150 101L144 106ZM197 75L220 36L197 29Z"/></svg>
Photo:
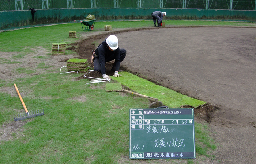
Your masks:
<svg viewBox="0 0 256 164"><path fill-rule="evenodd" d="M87 59L69 59L67 61L68 71L78 71L79 73L86 73L89 69Z"/></svg>

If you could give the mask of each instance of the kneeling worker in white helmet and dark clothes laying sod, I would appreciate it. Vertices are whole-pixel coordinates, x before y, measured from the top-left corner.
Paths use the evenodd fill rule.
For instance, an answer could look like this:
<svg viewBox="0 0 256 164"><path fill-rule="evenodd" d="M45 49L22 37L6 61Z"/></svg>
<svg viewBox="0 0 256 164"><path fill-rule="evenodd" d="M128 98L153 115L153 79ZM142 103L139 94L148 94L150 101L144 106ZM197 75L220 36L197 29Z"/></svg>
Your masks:
<svg viewBox="0 0 256 164"><path fill-rule="evenodd" d="M102 44L99 44L93 52L94 71L99 71L104 79L111 79L106 75L105 63L115 59L111 71L114 72L114 77L121 76L118 74L120 63L126 56L126 50L118 47L118 39L115 35L110 35Z"/></svg>

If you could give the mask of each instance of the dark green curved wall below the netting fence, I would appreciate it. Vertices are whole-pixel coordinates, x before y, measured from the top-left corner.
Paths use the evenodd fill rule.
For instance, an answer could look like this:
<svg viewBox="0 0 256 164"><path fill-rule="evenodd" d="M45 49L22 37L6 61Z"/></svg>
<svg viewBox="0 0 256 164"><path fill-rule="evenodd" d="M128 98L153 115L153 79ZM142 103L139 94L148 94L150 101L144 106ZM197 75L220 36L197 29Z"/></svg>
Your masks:
<svg viewBox="0 0 256 164"><path fill-rule="evenodd" d="M85 19L88 14L95 15L98 20L151 20L153 11L165 11L165 19L225 19L256 20L256 11L248 10L214 10L214 9L173 9L173 8L79 8L36 10L34 21L30 10L1 11L0 30L20 27L38 26L42 24L70 23Z"/></svg>

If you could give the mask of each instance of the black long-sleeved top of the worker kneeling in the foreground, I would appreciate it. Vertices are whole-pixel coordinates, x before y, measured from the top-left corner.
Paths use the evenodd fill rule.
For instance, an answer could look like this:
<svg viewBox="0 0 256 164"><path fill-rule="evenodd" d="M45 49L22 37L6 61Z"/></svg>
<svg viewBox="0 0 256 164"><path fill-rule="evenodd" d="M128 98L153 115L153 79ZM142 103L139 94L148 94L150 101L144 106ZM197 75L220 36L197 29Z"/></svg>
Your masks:
<svg viewBox="0 0 256 164"><path fill-rule="evenodd" d="M96 57L99 58L99 65L101 66L102 75L106 74L105 63L112 61L114 59L116 63L116 71L119 71L121 63L119 47L114 51L110 51L107 47L107 44L103 43L100 44L98 48L95 50L95 54L97 55Z"/></svg>

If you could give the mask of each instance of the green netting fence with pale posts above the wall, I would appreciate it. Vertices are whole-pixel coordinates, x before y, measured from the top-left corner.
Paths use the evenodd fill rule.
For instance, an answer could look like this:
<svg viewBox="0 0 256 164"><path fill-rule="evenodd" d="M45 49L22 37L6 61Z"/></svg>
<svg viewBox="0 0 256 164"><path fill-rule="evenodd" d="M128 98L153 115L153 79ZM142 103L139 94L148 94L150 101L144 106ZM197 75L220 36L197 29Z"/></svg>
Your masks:
<svg viewBox="0 0 256 164"><path fill-rule="evenodd" d="M256 0L1 0L0 11L64 8L188 8L256 10Z"/></svg>

